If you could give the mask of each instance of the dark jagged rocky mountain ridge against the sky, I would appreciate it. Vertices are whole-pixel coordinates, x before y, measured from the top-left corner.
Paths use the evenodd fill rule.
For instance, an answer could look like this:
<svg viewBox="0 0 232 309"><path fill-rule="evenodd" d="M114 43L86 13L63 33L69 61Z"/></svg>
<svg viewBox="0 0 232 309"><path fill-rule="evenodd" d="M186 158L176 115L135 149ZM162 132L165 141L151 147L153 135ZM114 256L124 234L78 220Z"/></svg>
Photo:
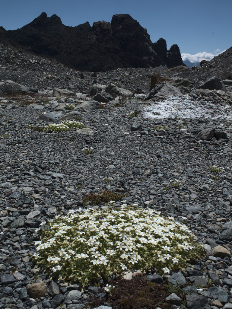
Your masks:
<svg viewBox="0 0 232 309"><path fill-rule="evenodd" d="M111 23L98 21L91 27L86 22L68 27L57 15L48 17L42 13L26 26L5 31L4 35L27 51L55 58L77 70L183 65L176 44L170 50L162 38L153 44L146 29L128 14L113 15Z"/></svg>

